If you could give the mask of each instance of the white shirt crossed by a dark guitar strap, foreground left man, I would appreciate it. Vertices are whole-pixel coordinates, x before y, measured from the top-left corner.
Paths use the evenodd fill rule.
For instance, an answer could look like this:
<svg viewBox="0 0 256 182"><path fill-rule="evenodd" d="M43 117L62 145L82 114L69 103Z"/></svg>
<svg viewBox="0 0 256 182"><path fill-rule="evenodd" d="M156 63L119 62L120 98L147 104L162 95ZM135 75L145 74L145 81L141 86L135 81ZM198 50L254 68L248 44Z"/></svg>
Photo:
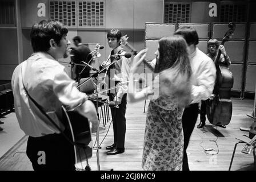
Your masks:
<svg viewBox="0 0 256 182"><path fill-rule="evenodd" d="M22 76L27 92L61 130L65 129L61 122L61 106L66 105L69 110L73 110L87 100L86 94L79 92L75 81L67 75L63 65L47 53L33 53L15 68L11 78L19 126L31 137L42 137L60 131L29 99L22 84Z"/></svg>

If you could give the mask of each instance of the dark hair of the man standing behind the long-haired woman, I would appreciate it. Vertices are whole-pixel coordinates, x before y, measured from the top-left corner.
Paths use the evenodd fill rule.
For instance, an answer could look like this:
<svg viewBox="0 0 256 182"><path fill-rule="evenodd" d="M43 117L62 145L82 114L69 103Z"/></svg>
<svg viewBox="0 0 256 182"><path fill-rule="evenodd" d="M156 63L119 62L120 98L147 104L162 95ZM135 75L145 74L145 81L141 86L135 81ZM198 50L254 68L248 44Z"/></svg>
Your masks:
<svg viewBox="0 0 256 182"><path fill-rule="evenodd" d="M186 40L187 45L198 44L198 34L195 28L190 26L183 26L174 32L174 35L181 35Z"/></svg>

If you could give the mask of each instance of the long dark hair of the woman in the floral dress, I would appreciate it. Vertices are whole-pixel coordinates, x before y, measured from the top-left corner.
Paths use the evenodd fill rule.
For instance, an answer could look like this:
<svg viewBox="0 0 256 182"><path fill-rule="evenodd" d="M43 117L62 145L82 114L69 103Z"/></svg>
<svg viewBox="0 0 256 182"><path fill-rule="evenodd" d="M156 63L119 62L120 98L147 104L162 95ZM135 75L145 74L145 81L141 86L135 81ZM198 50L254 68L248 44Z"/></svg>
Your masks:
<svg viewBox="0 0 256 182"><path fill-rule="evenodd" d="M191 102L192 74L186 40L181 36L164 37L159 40L159 93L175 96L178 105L184 107Z"/></svg>

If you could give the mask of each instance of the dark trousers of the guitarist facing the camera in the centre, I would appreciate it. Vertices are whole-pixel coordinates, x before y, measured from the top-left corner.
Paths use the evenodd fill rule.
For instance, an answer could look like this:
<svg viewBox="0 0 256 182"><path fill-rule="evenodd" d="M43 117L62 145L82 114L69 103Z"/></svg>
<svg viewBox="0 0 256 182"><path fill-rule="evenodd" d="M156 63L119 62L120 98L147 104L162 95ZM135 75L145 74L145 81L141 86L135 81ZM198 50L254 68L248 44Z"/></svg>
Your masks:
<svg viewBox="0 0 256 182"><path fill-rule="evenodd" d="M111 108L111 115L113 118L113 130L114 130L114 143L116 148L125 148L125 132L126 132L126 100L127 94L123 95L122 102L119 104L119 108ZM114 100L114 95L110 94L109 100Z"/></svg>

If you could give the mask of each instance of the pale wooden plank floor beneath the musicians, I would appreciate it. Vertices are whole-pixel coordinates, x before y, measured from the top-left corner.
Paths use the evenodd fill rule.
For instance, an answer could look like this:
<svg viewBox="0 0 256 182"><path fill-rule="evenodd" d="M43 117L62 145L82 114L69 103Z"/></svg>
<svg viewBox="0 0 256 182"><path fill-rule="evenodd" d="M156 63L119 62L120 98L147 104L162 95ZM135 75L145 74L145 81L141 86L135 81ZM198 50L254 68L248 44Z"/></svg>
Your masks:
<svg viewBox="0 0 256 182"><path fill-rule="evenodd" d="M229 169L230 159L233 152L234 144L237 142L237 137L248 135L247 131L239 130L239 127L250 127L253 119L247 117L246 114L251 114L253 110L253 100L239 100L239 98L232 98L233 101L233 116L226 129L215 127L209 122L206 123L205 129L195 129L190 139L189 147L187 148L189 166L191 170L202 171L227 171ZM147 104L149 102L147 101ZM125 153L109 156L106 155L105 147L113 143L113 129L109 122L105 128L101 128L99 142L107 133L110 126L109 133L105 140L103 140L99 150L99 164L101 170L113 168L121 171L142 170L142 150L143 138L145 129L146 113L143 113L144 102L136 104L128 104L126 112L126 142ZM198 117L199 119L199 117ZM199 123L199 120L197 124ZM101 123L102 126L102 123ZM95 141L95 135L93 135ZM17 144L15 144L5 155L0 159L0 170L33 170L31 163L26 154L27 137L23 137ZM215 142L210 140L216 140ZM96 144L97 146L97 144ZM203 148L214 148L219 152L217 155L205 154ZM233 166L231 170L255 170L253 165L253 154L243 154L241 152L243 145L238 145L235 154ZM17 151L21 151L15 153ZM213 151L214 152L214 151ZM251 152L252 153L252 152ZM65 159L63 159L65 160ZM93 157L89 160L92 170L97 170L97 156L96 150L93 151ZM58 168L58 166L56 166ZM85 163L83 163L83 168Z"/></svg>

